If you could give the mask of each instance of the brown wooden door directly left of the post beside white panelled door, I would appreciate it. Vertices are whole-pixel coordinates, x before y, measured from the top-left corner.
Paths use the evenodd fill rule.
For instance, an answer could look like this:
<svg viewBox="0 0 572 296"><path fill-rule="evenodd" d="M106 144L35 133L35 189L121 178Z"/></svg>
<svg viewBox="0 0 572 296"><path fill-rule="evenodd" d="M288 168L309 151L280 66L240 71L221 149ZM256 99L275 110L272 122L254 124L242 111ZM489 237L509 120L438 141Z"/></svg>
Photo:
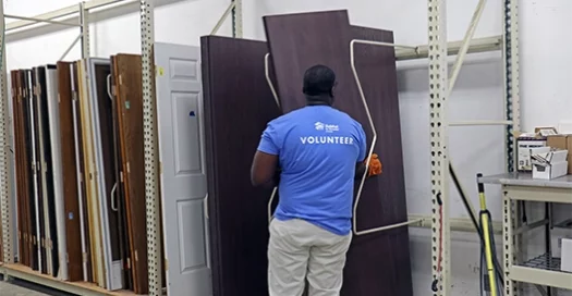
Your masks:
<svg viewBox="0 0 572 296"><path fill-rule="evenodd" d="M112 62L117 86L133 286L136 294L147 294L149 286L141 55L118 54L113 57Z"/></svg>

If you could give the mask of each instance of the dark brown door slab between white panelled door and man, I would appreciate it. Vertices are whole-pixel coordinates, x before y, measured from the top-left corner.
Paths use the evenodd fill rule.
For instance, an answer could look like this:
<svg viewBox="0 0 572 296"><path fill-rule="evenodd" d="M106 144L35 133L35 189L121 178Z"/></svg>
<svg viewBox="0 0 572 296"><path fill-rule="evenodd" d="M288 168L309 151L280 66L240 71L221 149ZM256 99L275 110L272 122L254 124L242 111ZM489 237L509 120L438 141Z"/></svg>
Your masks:
<svg viewBox="0 0 572 296"><path fill-rule="evenodd" d="M267 202L252 157L280 111L266 84L261 41L203 37L203 89L215 296L268 295Z"/></svg>

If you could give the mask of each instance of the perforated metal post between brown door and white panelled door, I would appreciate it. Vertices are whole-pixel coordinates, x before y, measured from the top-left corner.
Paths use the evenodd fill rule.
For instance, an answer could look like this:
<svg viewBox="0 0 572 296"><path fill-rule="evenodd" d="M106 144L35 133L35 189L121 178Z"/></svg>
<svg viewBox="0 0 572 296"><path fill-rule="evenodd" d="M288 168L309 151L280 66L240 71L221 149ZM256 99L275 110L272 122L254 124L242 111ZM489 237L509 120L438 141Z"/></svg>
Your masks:
<svg viewBox="0 0 572 296"><path fill-rule="evenodd" d="M143 131L145 146L145 200L147 208L147 258L149 296L162 295L162 257L159 197L159 153L153 45L154 0L141 3L141 51L143 70Z"/></svg>

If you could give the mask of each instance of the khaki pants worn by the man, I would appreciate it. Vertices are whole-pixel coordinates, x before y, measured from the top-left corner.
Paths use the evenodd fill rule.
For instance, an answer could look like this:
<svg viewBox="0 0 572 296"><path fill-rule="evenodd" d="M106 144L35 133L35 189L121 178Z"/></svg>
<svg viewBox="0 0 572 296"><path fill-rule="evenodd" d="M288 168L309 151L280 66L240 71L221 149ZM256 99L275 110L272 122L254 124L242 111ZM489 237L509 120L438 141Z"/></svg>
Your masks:
<svg viewBox="0 0 572 296"><path fill-rule="evenodd" d="M270 223L268 291L270 296L338 296L352 235L340 236L303 220Z"/></svg>

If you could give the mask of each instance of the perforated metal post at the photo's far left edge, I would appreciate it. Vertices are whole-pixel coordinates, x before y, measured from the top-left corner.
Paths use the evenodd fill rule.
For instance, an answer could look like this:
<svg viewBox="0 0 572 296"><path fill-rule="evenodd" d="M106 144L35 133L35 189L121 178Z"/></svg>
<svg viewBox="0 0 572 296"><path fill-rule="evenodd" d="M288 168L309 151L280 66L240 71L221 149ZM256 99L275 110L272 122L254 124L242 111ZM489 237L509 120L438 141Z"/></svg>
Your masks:
<svg viewBox="0 0 572 296"><path fill-rule="evenodd" d="M0 125L2 131L0 134L0 207L2 211L2 250L3 250L3 262L14 262L14 243L13 227L14 222L12 215L14 213L13 205L13 190L12 183L10 180L10 151L12 143L12 127L10 124L9 104L8 104L8 79L7 79L7 59L5 59L5 17L4 17L4 1L0 0L0 46L1 51L1 64L0 64Z"/></svg>

